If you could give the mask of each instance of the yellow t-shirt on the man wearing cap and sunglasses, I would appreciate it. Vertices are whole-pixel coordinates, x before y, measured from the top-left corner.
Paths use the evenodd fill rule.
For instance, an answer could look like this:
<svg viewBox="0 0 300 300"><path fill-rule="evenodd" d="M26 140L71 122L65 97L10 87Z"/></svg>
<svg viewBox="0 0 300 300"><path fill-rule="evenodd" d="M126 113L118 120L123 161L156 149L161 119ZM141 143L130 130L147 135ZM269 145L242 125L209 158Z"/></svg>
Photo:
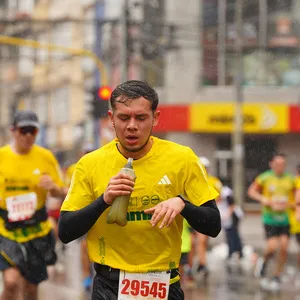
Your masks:
<svg viewBox="0 0 300 300"><path fill-rule="evenodd" d="M45 206L47 191L38 187L41 175L51 176L53 181L62 186L62 177L59 164L54 155L47 149L34 145L28 154L15 153L10 145L0 148L0 209L23 217L24 203L33 205L28 199L36 203L34 211ZM25 202L22 202L24 201ZM14 206L14 202L18 204ZM26 202L27 201L27 202ZM45 236L51 230L48 221L37 226L7 230L4 219L0 217L0 235L18 242Z"/></svg>

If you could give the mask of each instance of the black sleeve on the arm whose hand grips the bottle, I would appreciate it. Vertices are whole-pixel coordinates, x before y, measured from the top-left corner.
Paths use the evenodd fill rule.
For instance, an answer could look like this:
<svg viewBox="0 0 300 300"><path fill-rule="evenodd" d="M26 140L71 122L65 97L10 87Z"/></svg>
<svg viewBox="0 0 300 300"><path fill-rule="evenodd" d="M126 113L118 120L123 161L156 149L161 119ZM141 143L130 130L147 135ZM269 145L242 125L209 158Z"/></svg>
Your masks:
<svg viewBox="0 0 300 300"><path fill-rule="evenodd" d="M61 211L58 222L58 237L69 243L86 234L109 205L101 195L90 205L77 211Z"/></svg>

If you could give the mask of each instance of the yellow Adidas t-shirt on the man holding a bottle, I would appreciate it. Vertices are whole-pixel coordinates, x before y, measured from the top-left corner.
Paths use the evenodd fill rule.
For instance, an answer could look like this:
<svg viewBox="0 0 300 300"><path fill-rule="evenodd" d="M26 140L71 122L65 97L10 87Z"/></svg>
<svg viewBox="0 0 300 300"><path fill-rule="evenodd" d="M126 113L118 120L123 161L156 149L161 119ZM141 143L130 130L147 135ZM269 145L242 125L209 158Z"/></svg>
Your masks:
<svg viewBox="0 0 300 300"><path fill-rule="evenodd" d="M178 267L183 217L178 215L169 228L159 229L151 226L151 215L143 211L179 194L195 205L218 196L190 148L151 138L151 150L133 161L136 181L127 225L107 224L108 208L88 232L88 252L93 262L140 273ZM116 144L115 139L80 159L62 211L79 210L104 193L110 178L127 162Z"/></svg>

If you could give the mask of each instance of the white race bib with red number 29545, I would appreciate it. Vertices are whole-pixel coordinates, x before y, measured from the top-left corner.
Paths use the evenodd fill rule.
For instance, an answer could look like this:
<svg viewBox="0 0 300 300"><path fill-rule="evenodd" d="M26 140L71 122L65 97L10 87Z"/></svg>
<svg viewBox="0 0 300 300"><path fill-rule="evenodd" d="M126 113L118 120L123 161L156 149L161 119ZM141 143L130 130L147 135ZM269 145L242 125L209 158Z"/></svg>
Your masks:
<svg viewBox="0 0 300 300"><path fill-rule="evenodd" d="M170 273L120 271L118 300L168 299Z"/></svg>

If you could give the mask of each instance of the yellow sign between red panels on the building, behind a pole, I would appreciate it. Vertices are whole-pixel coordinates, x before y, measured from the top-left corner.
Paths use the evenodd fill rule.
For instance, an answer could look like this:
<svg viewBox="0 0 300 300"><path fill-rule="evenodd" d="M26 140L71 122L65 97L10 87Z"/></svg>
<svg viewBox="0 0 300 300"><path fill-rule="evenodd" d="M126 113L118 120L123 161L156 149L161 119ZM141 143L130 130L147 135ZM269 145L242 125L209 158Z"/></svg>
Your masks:
<svg viewBox="0 0 300 300"><path fill-rule="evenodd" d="M190 106L190 130L229 133L233 130L234 103L195 103ZM288 132L288 106L285 104L244 103L244 132Z"/></svg>

